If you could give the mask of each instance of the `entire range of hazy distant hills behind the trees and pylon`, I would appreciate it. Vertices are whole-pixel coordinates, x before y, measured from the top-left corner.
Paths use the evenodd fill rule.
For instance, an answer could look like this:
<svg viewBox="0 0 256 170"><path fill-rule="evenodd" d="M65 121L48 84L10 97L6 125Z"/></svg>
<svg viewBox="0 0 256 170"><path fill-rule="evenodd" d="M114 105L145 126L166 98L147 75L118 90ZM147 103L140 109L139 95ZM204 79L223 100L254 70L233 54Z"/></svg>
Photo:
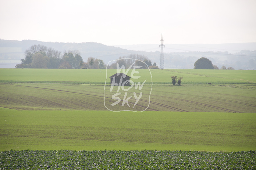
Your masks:
<svg viewBox="0 0 256 170"><path fill-rule="evenodd" d="M14 68L25 57L24 52L34 44L52 47L54 50L79 50L83 61L88 57L102 59L105 64L130 54L147 56L152 63L160 64L159 44L106 46L95 42L58 43L37 40L1 40L0 68ZM244 51L241 51L244 50ZM256 43L231 44L165 44L164 67L166 69L193 69L200 57L209 58L219 68L225 65L235 69L256 69Z"/></svg>

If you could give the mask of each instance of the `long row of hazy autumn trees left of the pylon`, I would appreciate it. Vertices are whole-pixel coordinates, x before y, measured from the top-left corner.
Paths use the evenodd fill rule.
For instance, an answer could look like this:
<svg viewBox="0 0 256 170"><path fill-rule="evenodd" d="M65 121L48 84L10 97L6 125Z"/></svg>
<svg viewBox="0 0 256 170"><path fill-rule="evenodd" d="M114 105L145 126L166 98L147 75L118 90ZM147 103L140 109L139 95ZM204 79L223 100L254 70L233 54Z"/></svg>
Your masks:
<svg viewBox="0 0 256 170"><path fill-rule="evenodd" d="M128 60L125 58L133 58ZM144 55L131 54L128 57L120 57L115 63L112 63L108 68L116 69L116 64L127 67L132 63L142 66L140 69L146 69L146 64L150 69L158 69L156 63L153 63ZM141 61L138 61L141 60ZM146 64L145 64L146 63ZM129 67L128 66L128 67ZM17 64L15 68L50 68L50 69L106 69L107 65L102 59L89 57L87 62L83 62L81 53L77 50L60 51L48 48L43 45L33 45L25 51L25 58L21 59L21 64Z"/></svg>

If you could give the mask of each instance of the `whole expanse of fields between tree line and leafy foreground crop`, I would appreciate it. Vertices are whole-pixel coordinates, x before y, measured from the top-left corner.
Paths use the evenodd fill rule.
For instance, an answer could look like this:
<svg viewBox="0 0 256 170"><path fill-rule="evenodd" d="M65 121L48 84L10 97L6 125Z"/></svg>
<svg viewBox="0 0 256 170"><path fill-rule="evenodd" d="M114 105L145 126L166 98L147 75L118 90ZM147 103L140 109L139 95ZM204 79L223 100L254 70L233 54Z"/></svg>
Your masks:
<svg viewBox="0 0 256 170"><path fill-rule="evenodd" d="M255 70L139 71L135 113L104 106L116 70L0 69L0 150L256 150Z"/></svg>

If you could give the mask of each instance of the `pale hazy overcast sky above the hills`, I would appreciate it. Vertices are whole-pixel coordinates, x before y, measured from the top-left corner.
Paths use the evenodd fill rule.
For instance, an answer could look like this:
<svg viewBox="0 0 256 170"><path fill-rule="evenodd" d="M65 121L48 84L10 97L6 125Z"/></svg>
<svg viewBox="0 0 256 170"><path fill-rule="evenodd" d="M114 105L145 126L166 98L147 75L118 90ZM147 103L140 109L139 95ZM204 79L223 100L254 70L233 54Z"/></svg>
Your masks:
<svg viewBox="0 0 256 170"><path fill-rule="evenodd" d="M0 39L106 45L256 42L256 0L0 0Z"/></svg>

